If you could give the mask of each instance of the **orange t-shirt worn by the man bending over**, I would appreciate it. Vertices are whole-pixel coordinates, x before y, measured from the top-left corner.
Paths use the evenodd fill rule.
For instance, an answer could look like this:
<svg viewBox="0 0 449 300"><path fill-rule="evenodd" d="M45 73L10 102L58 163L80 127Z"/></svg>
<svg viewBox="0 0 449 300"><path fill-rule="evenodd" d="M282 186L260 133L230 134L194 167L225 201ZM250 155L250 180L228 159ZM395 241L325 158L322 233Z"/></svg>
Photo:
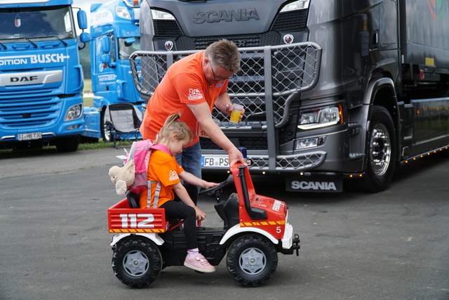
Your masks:
<svg viewBox="0 0 449 300"><path fill-rule="evenodd" d="M196 136L196 118L187 104L208 103L213 110L215 100L220 93L227 91L227 80L218 84L209 84L203 74L202 60L204 51L194 53L178 60L168 68L167 74L157 86L148 102L140 133L145 140L156 138L163 123L174 112L182 112L181 121L185 122L194 140L187 147L199 141Z"/></svg>

